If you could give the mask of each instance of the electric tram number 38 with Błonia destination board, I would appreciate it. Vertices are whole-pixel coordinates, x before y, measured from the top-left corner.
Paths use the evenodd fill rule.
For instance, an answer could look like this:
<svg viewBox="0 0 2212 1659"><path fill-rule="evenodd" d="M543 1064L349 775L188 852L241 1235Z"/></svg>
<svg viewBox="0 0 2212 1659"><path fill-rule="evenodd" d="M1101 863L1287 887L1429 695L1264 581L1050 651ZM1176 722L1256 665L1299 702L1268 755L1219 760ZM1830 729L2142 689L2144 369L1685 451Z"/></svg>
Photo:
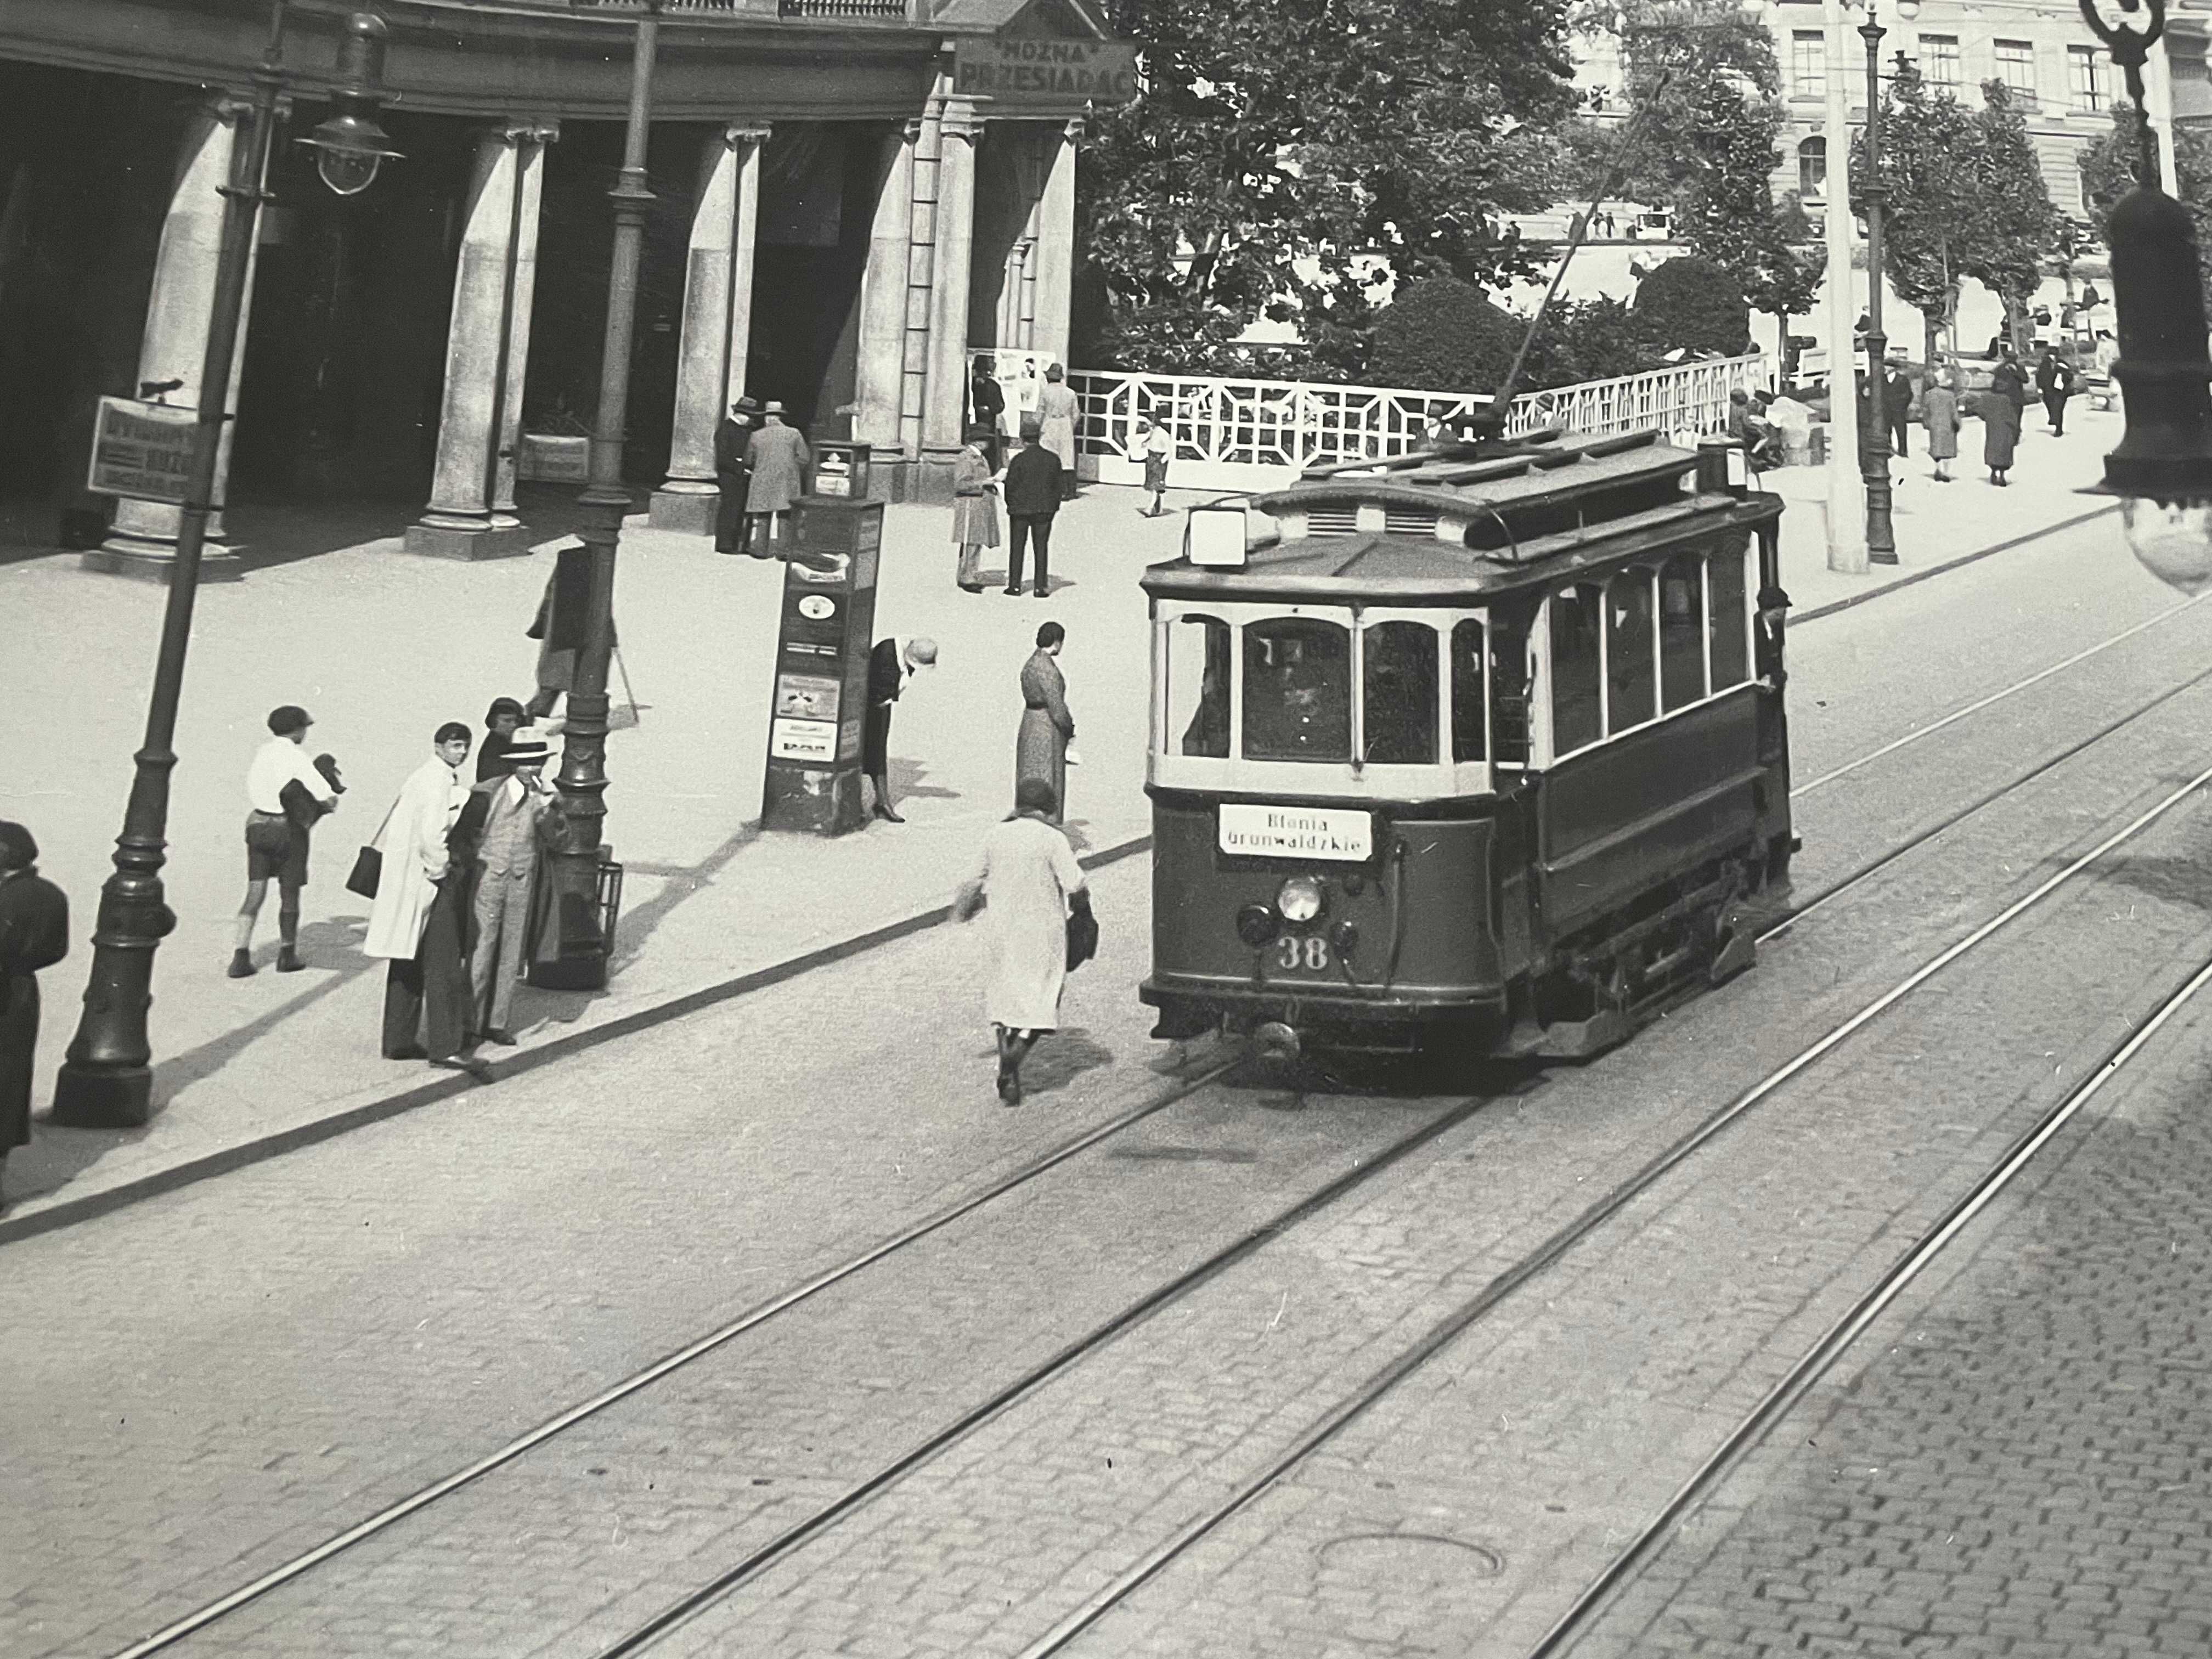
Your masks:
<svg viewBox="0 0 2212 1659"><path fill-rule="evenodd" d="M1590 1057L1787 880L1783 504L1732 445L1455 445L1146 571L1157 1037Z"/></svg>

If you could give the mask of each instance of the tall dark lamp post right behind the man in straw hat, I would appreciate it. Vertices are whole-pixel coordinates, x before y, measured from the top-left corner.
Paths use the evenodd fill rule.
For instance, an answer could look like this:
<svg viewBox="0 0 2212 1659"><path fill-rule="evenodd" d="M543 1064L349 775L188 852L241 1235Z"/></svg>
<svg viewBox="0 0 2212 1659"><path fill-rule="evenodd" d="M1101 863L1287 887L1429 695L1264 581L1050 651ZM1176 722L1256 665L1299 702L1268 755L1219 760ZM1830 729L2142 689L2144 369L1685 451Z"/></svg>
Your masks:
<svg viewBox="0 0 2212 1659"><path fill-rule="evenodd" d="M646 139L653 124L653 62L659 51L659 0L646 0L630 58L630 113L622 139L615 201L615 252L606 272L606 336L599 349L599 409L591 422L591 482L577 538L591 553L591 608L568 690L555 845L546 860L560 960L540 962L533 984L595 991L606 984L613 940L599 918L599 845L606 821L606 670L615 648L615 551L630 491L622 484L622 445L630 403L630 336L637 325L637 265L653 190Z"/></svg>

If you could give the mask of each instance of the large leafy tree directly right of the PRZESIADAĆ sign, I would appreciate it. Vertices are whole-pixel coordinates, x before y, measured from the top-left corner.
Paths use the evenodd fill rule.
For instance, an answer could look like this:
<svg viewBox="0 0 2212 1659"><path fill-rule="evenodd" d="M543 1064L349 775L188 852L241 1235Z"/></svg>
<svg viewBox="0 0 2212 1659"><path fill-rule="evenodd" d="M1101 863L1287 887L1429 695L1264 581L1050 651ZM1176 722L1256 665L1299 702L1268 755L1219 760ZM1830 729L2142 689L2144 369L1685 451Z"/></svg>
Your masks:
<svg viewBox="0 0 2212 1659"><path fill-rule="evenodd" d="M1128 367L1225 367L1256 319L1365 361L1374 292L1528 274L1553 197L1568 0L1106 0L1144 91L1099 117L1082 254Z"/></svg>

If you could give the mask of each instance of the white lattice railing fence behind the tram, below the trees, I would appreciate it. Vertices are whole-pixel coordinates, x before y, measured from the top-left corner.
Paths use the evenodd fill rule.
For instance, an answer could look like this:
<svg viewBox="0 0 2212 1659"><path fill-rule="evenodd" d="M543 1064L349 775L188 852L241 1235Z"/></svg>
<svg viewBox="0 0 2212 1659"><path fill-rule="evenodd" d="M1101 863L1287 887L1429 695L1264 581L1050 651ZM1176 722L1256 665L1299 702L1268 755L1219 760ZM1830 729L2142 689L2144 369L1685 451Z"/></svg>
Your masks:
<svg viewBox="0 0 2212 1659"><path fill-rule="evenodd" d="M1582 436L1644 427L1708 434L1728 422L1730 392L1772 380L1763 354L1584 380L1515 398L1506 431L1564 425ZM1075 436L1086 476L1097 467L1099 482L1141 482L1144 467L1126 449L1135 418L1150 416L1175 438L1168 478L1183 489L1279 489L1307 467L1402 456L1420 447L1431 420L1486 403L1398 387L1115 369L1071 369L1068 385L1082 411Z"/></svg>

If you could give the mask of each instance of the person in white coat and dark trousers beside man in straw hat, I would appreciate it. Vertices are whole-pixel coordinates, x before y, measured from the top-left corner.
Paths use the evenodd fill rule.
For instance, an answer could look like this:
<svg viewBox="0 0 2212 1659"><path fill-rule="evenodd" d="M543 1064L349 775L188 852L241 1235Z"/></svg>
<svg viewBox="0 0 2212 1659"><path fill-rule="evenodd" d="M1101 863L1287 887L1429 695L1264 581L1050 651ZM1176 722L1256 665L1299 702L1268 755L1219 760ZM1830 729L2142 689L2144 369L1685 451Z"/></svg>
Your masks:
<svg viewBox="0 0 2212 1659"><path fill-rule="evenodd" d="M389 962L385 1060L473 1068L458 1060L471 1035L467 863L456 867L451 847L451 832L469 801L460 781L467 759L469 728L447 721L431 739L431 757L400 785L376 836L383 865L361 949Z"/></svg>

